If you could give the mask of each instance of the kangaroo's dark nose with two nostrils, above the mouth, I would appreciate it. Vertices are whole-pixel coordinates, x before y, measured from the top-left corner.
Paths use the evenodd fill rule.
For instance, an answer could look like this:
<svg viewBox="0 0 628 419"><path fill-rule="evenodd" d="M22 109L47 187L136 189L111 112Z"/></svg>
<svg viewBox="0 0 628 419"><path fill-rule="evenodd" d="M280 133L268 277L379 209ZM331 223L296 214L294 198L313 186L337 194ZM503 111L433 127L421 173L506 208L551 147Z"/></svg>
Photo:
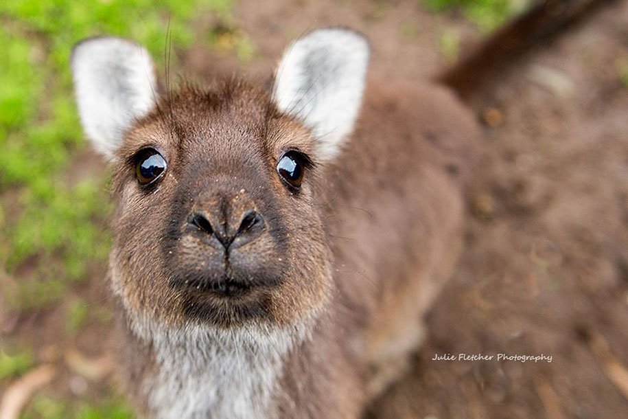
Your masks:
<svg viewBox="0 0 628 419"><path fill-rule="evenodd" d="M242 214L239 223L229 225L229 222L220 222L211 214L196 210L189 216L188 222L200 231L215 237L224 249L235 249L252 242L264 230L264 217L255 210L248 210Z"/></svg>

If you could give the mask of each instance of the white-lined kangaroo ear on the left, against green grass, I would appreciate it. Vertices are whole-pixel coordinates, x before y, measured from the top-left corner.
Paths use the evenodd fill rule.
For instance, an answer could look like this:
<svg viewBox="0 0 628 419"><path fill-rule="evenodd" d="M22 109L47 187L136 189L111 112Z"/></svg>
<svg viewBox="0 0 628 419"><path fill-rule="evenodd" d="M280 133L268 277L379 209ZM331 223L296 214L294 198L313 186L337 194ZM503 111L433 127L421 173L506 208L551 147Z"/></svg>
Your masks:
<svg viewBox="0 0 628 419"><path fill-rule="evenodd" d="M120 38L90 38L72 52L78 112L96 150L113 159L124 134L156 102L154 64L143 47Z"/></svg>

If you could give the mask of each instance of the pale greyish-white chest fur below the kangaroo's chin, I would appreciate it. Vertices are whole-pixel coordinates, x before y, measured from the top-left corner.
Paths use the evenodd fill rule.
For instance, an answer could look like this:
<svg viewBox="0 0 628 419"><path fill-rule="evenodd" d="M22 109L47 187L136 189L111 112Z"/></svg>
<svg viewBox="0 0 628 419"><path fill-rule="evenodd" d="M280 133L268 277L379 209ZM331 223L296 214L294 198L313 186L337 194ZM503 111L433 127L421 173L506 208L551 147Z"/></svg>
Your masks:
<svg viewBox="0 0 628 419"><path fill-rule="evenodd" d="M155 370L142 383L151 418L276 416L273 394L283 359L303 333L259 326L234 331L151 329Z"/></svg>

